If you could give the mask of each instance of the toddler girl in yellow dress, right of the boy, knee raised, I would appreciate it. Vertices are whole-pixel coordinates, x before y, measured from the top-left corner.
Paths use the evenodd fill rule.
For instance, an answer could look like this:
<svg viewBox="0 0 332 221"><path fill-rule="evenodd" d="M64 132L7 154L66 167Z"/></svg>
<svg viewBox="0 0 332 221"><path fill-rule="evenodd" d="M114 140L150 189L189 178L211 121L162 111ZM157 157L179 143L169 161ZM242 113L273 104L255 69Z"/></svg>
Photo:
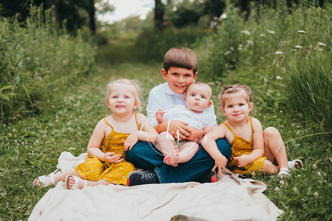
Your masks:
<svg viewBox="0 0 332 221"><path fill-rule="evenodd" d="M300 160L287 162L284 142L279 131L268 127L264 131L259 120L250 117L252 92L247 85L227 85L220 93L221 110L227 119L203 138L201 144L215 160L219 175L225 166L233 173L289 175L289 167L302 166ZM215 140L225 138L232 151L227 159L218 151ZM278 166L273 164L276 159Z"/></svg>

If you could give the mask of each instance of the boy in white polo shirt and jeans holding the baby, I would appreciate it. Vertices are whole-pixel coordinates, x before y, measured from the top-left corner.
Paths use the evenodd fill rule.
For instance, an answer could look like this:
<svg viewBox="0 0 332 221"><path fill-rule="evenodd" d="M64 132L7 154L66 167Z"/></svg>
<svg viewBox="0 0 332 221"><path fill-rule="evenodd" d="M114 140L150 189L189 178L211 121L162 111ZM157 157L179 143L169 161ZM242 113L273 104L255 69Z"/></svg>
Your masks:
<svg viewBox="0 0 332 221"><path fill-rule="evenodd" d="M187 48L178 47L170 49L164 57L164 68L161 70L166 83L160 84L150 91L146 107L147 117L158 131L158 133L168 131L175 139L187 139L196 141L201 139L201 130L188 127L184 121L168 121L158 124L153 118L154 113L159 108L168 105L185 105L184 96L187 87L197 76L197 57ZM206 109L213 117L213 104ZM215 121L216 123L216 121ZM180 137L180 138L179 138ZM218 150L227 159L230 156L230 145L225 139L216 140ZM214 160L200 145L195 156L186 163L181 163L177 167L164 163L164 156L157 148L148 142L138 141L130 151L126 151L126 159L135 167L145 169L145 171L133 171L129 174L127 185L141 185L149 183L178 183L188 181L214 182L217 181Z"/></svg>

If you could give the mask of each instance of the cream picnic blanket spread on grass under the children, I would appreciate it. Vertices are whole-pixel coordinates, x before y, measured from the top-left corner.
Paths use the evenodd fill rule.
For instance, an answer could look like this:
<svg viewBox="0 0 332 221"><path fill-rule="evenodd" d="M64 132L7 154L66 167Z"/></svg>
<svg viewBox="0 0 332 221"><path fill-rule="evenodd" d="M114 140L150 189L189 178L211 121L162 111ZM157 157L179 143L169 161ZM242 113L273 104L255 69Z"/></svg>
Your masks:
<svg viewBox="0 0 332 221"><path fill-rule="evenodd" d="M84 161L61 153L57 168L65 171ZM218 182L87 186L66 190L64 182L49 189L36 204L33 220L160 220L175 215L204 220L277 220L283 213L262 192L263 182L223 173Z"/></svg>

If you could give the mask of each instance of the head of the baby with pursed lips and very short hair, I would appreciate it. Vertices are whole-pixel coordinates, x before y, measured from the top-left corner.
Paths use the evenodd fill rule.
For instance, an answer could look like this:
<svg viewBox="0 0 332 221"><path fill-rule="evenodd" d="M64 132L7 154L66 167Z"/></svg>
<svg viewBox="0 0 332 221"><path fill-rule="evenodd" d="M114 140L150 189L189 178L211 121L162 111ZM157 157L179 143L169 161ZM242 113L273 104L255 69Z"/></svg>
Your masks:
<svg viewBox="0 0 332 221"><path fill-rule="evenodd" d="M187 108L196 114L201 113L211 106L211 93L211 88L208 85L190 86L185 96Z"/></svg>

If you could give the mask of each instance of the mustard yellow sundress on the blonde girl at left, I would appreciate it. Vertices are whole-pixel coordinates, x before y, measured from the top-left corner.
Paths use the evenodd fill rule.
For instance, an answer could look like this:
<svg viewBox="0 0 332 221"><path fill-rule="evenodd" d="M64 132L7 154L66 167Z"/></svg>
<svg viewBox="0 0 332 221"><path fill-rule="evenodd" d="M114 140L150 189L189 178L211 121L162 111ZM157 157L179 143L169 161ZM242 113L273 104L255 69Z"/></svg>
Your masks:
<svg viewBox="0 0 332 221"><path fill-rule="evenodd" d="M137 129L139 130L139 125L136 118ZM104 138L100 150L104 153L114 152L115 155L122 154L120 159L124 159L124 161L119 164L111 164L107 162L101 162L97 157L87 155L85 157L85 161L78 166L75 167L76 172L83 177L83 179L98 181L100 179L107 180L114 184L127 184L128 174L135 170L134 165L125 160L125 152L124 152L124 141L130 134L118 133L115 132L113 127L106 121L106 117L104 118L105 123L108 124L112 131L111 133Z"/></svg>

